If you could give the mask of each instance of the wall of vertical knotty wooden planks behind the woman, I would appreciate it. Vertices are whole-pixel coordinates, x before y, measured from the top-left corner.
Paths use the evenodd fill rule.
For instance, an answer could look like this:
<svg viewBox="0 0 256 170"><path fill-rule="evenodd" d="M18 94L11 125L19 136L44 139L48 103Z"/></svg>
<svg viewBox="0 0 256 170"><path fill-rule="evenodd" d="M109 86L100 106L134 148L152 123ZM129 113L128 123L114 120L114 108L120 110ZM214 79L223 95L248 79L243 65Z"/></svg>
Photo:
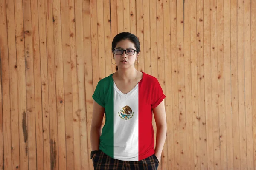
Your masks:
<svg viewBox="0 0 256 170"><path fill-rule="evenodd" d="M166 94L159 170L256 170L256 0L0 0L0 169L92 170L111 41ZM154 125L155 127L155 125Z"/></svg>

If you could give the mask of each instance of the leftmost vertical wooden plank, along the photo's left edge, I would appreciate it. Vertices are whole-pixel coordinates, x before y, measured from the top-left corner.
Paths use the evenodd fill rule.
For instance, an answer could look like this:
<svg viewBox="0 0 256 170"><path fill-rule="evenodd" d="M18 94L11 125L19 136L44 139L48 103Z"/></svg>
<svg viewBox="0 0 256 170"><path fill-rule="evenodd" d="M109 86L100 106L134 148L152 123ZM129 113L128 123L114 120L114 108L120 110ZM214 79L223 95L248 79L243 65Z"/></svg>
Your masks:
<svg viewBox="0 0 256 170"><path fill-rule="evenodd" d="M6 18L6 2L0 2L0 169L12 169L12 143L11 143L11 103L10 103L10 80L9 80L9 57L8 34ZM16 60L16 57L15 57ZM14 61L12 61L14 62ZM11 69L10 69L11 70ZM16 79L17 81L17 79ZM17 88L17 86L16 86ZM17 91L17 89L16 89ZM17 96L16 96L17 97ZM16 131L17 132L17 131ZM16 148L15 148L16 150ZM18 150L18 147L17 147ZM15 161L17 163L17 161ZM17 165L19 167L19 164Z"/></svg>

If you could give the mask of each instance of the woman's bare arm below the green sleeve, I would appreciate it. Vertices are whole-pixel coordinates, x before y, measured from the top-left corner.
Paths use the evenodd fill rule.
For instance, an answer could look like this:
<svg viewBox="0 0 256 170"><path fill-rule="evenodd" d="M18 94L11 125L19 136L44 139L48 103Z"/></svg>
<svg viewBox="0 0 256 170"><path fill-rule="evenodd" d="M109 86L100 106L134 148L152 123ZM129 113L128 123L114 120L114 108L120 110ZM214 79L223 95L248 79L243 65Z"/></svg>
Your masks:
<svg viewBox="0 0 256 170"><path fill-rule="evenodd" d="M99 150L99 136L101 134L104 112L105 109L93 100L93 118L90 130L92 151Z"/></svg>

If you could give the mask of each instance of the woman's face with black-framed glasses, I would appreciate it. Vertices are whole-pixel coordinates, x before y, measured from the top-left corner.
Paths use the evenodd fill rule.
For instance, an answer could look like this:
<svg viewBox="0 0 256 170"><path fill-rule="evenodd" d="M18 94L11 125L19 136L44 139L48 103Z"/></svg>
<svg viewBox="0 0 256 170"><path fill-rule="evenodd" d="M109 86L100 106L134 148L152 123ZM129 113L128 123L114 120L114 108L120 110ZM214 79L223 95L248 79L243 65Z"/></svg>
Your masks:
<svg viewBox="0 0 256 170"><path fill-rule="evenodd" d="M136 51L134 52L134 50L136 50L136 48L135 48L133 42L131 42L129 39L121 40L116 44L115 49L116 49L116 52L113 53L113 56L116 61L116 65L118 66L118 69L119 68L129 68L131 66L134 66L134 62L137 59L137 57L139 56L139 53L137 53ZM127 54L133 54L133 53L134 54L127 55L125 53L125 51L123 51L122 55L116 55L116 54L122 52L122 50L127 50L126 51Z"/></svg>

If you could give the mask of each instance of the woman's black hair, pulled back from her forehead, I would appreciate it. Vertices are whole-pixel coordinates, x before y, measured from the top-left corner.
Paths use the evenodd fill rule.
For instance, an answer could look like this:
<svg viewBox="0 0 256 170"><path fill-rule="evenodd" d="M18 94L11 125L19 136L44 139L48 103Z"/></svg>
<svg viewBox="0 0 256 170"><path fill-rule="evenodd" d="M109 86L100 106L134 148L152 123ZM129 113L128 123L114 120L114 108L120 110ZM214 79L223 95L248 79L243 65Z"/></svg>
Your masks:
<svg viewBox="0 0 256 170"><path fill-rule="evenodd" d="M116 48L116 44L118 42L120 42L121 40L126 40L126 39L128 39L134 43L137 53L140 52L140 41L139 41L138 37L136 37L134 34L131 34L130 32L121 32L114 37L114 39L112 41L112 52ZM117 70L118 70L118 68L116 66L116 71Z"/></svg>

